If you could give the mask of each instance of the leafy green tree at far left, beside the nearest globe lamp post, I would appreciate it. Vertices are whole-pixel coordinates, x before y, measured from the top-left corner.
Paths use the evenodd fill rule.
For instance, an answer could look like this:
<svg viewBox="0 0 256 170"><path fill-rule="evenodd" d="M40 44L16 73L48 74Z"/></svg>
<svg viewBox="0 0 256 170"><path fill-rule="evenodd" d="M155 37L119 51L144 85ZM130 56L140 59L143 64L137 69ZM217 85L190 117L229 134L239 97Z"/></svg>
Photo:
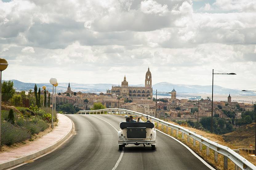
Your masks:
<svg viewBox="0 0 256 170"><path fill-rule="evenodd" d="M13 82L4 81L2 84L2 100L7 102L13 97L15 93L14 84Z"/></svg>

